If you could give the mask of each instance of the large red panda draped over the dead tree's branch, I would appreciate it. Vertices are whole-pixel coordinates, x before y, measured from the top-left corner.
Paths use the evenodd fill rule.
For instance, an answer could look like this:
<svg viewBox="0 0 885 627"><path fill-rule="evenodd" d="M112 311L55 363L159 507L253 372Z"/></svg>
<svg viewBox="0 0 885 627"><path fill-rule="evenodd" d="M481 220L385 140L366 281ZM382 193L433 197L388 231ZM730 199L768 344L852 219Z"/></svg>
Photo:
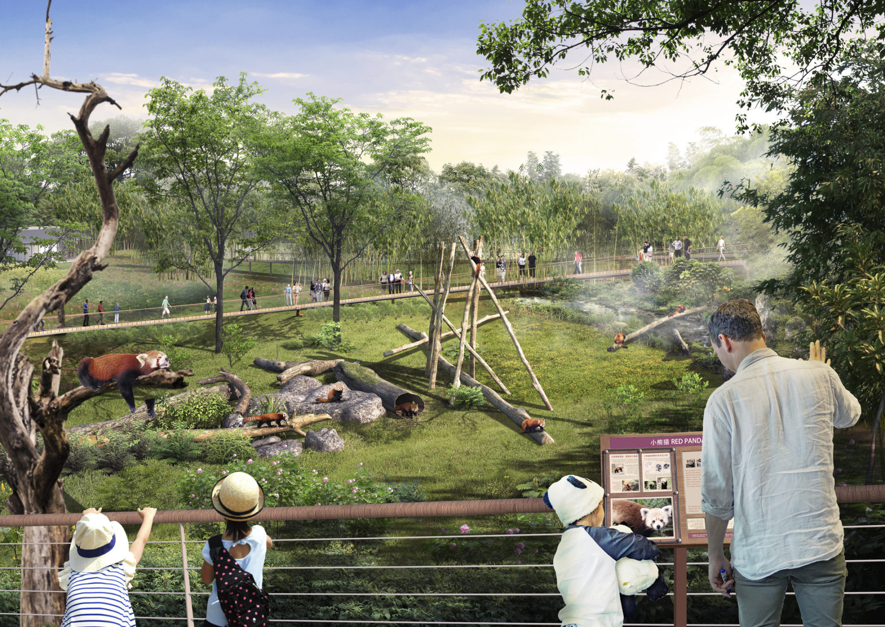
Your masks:
<svg viewBox="0 0 885 627"><path fill-rule="evenodd" d="M99 391L108 383L119 385L119 394L129 406L129 413L135 412L135 395L132 383L141 375L150 375L158 368L169 368L169 358L165 352L148 351L140 354L118 353L102 355L95 359L84 357L77 368L80 384L92 391ZM148 415L154 417L154 399L145 399Z"/></svg>

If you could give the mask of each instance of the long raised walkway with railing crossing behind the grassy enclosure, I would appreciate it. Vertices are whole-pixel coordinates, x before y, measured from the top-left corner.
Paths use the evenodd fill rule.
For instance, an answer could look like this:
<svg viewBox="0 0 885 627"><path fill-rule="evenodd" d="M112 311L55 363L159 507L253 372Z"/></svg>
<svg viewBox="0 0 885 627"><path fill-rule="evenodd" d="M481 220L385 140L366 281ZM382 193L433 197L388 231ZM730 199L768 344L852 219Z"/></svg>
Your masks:
<svg viewBox="0 0 885 627"><path fill-rule="evenodd" d="M725 265L735 265L741 263L740 259L746 252L745 246L727 247L725 256ZM719 251L715 247L698 249L692 255L692 259L704 262L719 262ZM655 253L654 260L661 265L667 265L673 261L666 252ZM574 261L557 261L552 263L539 264L535 268L526 266L524 271L520 271L519 267L511 264L504 273L504 279L496 270L495 259L486 259L483 261L485 266L485 278L489 284L493 286L504 285L530 285L538 281L546 281L552 277L564 276L566 278L580 277L582 279L589 278L612 278L617 275L627 275L637 263L636 256L619 256L619 257L602 257L595 259L584 259L581 262L581 274L575 273ZM534 271L533 271L534 270ZM323 277L319 277L323 278ZM451 276L451 289L454 291L466 290L473 279L471 272L453 273ZM231 279L228 278L228 281ZM246 280L248 281L248 279ZM433 277L419 277L414 279L414 283L419 285L422 290L433 290ZM362 285L344 285L341 289L341 303L348 305L360 302L380 301L385 298L410 298L419 297L418 290L410 290L408 284L408 276L403 277L403 283L389 285L388 283L364 283ZM251 301L243 301L241 298L227 299L223 301L223 311L225 315L236 315L240 312L251 314L256 311L273 312L283 311L287 309L309 309L319 306L331 306L332 291L324 292L316 297L310 292L310 283L304 286L304 290L298 295L291 296L281 294L271 294L266 296L258 296L255 303ZM109 305L103 313L96 311L98 304L89 303L89 314L76 313L65 314L65 324L61 325L57 315L45 316L42 324L37 324L28 337L40 337L42 335L56 334L61 329L82 330L82 329L115 329L126 326L142 325L146 322L171 322L171 321L196 321L209 318L215 314L215 305L213 303L189 303L187 305L170 305L168 313L164 313L162 306L148 307L144 309L121 309L119 312L112 311L113 306ZM12 321L0 321L0 333L2 333Z"/></svg>

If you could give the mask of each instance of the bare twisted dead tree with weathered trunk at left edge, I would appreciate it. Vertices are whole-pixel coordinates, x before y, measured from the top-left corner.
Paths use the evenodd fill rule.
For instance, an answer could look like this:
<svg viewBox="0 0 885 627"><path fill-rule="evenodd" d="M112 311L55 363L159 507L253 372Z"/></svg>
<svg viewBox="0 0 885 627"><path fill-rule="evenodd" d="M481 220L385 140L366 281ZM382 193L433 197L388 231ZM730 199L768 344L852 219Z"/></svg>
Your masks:
<svg viewBox="0 0 885 627"><path fill-rule="evenodd" d="M13 514L56 514L65 512L62 482L59 479L70 451L65 420L74 407L95 396L96 392L77 388L58 395L63 351L58 343L42 360L39 386L32 388L34 365L19 353L27 338L28 330L45 314L64 311L65 303L92 278L96 271L107 267L103 264L117 234L119 210L114 197L112 182L135 161L138 147L122 163L108 173L104 152L110 128L96 139L89 132L89 115L98 104L119 104L109 97L101 85L95 82L81 83L57 81L50 78L50 42L52 41L51 0L46 5L46 32L43 51L43 72L32 74L27 81L16 85L0 85L0 96L13 89L19 91L28 85L35 90L43 87L86 94L86 99L76 116L71 116L83 148L89 157L89 165L95 176L98 196L102 205L102 228L95 245L82 252L74 260L67 275L34 298L22 310L19 317L0 336L0 445L6 458L0 461L0 473L12 488L12 496L6 505ZM39 91L38 102L39 102ZM158 370L140 377L136 385L179 388L184 387L182 376ZM101 392L110 391L112 386ZM99 393L101 393L99 392ZM42 452L37 450L37 433L43 438ZM56 570L65 561L69 541L66 527L25 527L21 559L21 625L37 627L43 623L56 623L54 616L64 614L65 595L26 591L58 591ZM47 569L46 567L50 567Z"/></svg>

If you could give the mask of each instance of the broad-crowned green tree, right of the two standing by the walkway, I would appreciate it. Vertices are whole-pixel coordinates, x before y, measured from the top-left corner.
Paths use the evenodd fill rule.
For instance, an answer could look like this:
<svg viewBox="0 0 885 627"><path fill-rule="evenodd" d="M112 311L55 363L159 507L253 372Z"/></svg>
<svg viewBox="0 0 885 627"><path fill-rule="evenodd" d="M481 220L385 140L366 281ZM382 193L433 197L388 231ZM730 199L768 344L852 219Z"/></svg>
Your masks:
<svg viewBox="0 0 885 627"><path fill-rule="evenodd" d="M340 321L342 271L388 230L412 228L424 199L414 185L430 128L412 120L335 107L340 98L296 98L258 137L258 167L329 259L333 320Z"/></svg>

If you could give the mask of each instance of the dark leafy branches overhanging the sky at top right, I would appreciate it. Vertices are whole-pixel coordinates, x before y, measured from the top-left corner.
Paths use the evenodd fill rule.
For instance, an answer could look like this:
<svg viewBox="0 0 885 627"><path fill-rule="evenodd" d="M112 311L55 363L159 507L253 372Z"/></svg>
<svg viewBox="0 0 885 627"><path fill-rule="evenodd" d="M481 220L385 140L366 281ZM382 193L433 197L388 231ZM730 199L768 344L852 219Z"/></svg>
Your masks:
<svg viewBox="0 0 885 627"><path fill-rule="evenodd" d="M614 59L661 67L676 80L704 75L717 62L735 66L746 86L738 103L776 107L797 83L829 73L865 30L885 33L880 4L527 0L520 19L480 25L477 51L490 63L482 79L507 93L580 50L586 60L578 74L586 76ZM612 92L603 89L602 96ZM748 128L745 113L738 121Z"/></svg>

